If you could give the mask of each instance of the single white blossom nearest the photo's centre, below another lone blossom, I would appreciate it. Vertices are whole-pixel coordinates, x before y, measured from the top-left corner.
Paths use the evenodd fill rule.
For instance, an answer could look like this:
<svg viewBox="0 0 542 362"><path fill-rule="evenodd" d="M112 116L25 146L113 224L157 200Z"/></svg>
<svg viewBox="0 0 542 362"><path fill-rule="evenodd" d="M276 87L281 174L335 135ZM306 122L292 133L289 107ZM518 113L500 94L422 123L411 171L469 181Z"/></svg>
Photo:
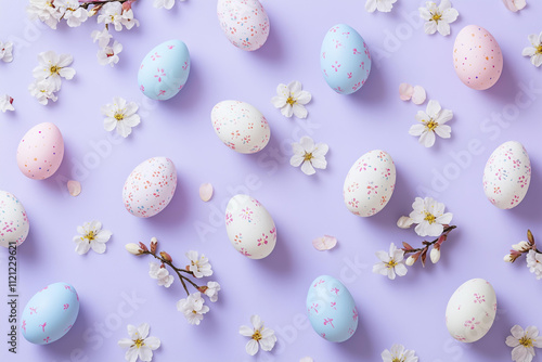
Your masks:
<svg viewBox="0 0 542 362"><path fill-rule="evenodd" d="M292 150L294 155L289 159L289 164L294 167L301 165L301 171L305 174L314 174L317 172L314 168L325 169L327 167L325 155L330 147L325 143L314 145L314 141L310 137L304 135L299 143L292 143Z"/></svg>

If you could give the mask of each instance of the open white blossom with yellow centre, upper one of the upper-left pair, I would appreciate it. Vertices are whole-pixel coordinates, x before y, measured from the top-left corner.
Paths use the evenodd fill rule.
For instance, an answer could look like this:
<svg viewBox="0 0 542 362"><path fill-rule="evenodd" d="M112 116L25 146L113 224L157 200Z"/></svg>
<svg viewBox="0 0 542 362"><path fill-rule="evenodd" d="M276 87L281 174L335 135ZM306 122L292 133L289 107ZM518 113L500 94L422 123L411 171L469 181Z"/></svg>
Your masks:
<svg viewBox="0 0 542 362"><path fill-rule="evenodd" d="M62 79L72 79L75 69L68 67L74 62L69 54L56 54L52 50L38 54L39 65L34 68L33 75L36 79L47 79L54 85L55 91L61 89Z"/></svg>

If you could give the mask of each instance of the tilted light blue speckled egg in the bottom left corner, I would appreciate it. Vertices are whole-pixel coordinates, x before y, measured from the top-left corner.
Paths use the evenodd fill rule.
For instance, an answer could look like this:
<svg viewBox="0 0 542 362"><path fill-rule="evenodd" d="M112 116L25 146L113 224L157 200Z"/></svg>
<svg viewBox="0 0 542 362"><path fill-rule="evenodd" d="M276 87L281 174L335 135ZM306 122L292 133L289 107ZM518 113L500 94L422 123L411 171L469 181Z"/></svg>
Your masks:
<svg viewBox="0 0 542 362"><path fill-rule="evenodd" d="M79 313L77 290L66 283L46 286L23 310L21 332L29 342L47 345L62 338Z"/></svg>

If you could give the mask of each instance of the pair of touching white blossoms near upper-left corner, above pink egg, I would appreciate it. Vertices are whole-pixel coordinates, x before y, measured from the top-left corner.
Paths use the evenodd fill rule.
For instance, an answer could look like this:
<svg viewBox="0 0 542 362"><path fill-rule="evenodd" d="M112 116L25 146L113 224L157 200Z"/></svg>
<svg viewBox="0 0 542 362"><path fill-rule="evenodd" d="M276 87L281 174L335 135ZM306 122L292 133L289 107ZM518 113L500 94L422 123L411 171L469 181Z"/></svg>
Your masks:
<svg viewBox="0 0 542 362"><path fill-rule="evenodd" d="M56 92L61 90L62 78L72 79L75 76L75 69L68 67L74 57L69 54L56 54L53 51L38 54L39 65L34 68L33 75L36 79L28 90L42 105L49 101L56 102Z"/></svg>

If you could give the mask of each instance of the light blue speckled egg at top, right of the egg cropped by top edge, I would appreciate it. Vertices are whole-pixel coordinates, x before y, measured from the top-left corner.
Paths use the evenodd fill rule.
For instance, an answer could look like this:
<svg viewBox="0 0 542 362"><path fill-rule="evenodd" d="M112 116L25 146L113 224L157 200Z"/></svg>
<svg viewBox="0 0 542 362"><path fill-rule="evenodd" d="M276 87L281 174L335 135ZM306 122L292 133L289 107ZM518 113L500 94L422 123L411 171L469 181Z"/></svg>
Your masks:
<svg viewBox="0 0 542 362"><path fill-rule="evenodd" d="M365 40L348 25L335 25L322 42L320 68L327 85L337 93L358 91L371 73L371 54Z"/></svg>

